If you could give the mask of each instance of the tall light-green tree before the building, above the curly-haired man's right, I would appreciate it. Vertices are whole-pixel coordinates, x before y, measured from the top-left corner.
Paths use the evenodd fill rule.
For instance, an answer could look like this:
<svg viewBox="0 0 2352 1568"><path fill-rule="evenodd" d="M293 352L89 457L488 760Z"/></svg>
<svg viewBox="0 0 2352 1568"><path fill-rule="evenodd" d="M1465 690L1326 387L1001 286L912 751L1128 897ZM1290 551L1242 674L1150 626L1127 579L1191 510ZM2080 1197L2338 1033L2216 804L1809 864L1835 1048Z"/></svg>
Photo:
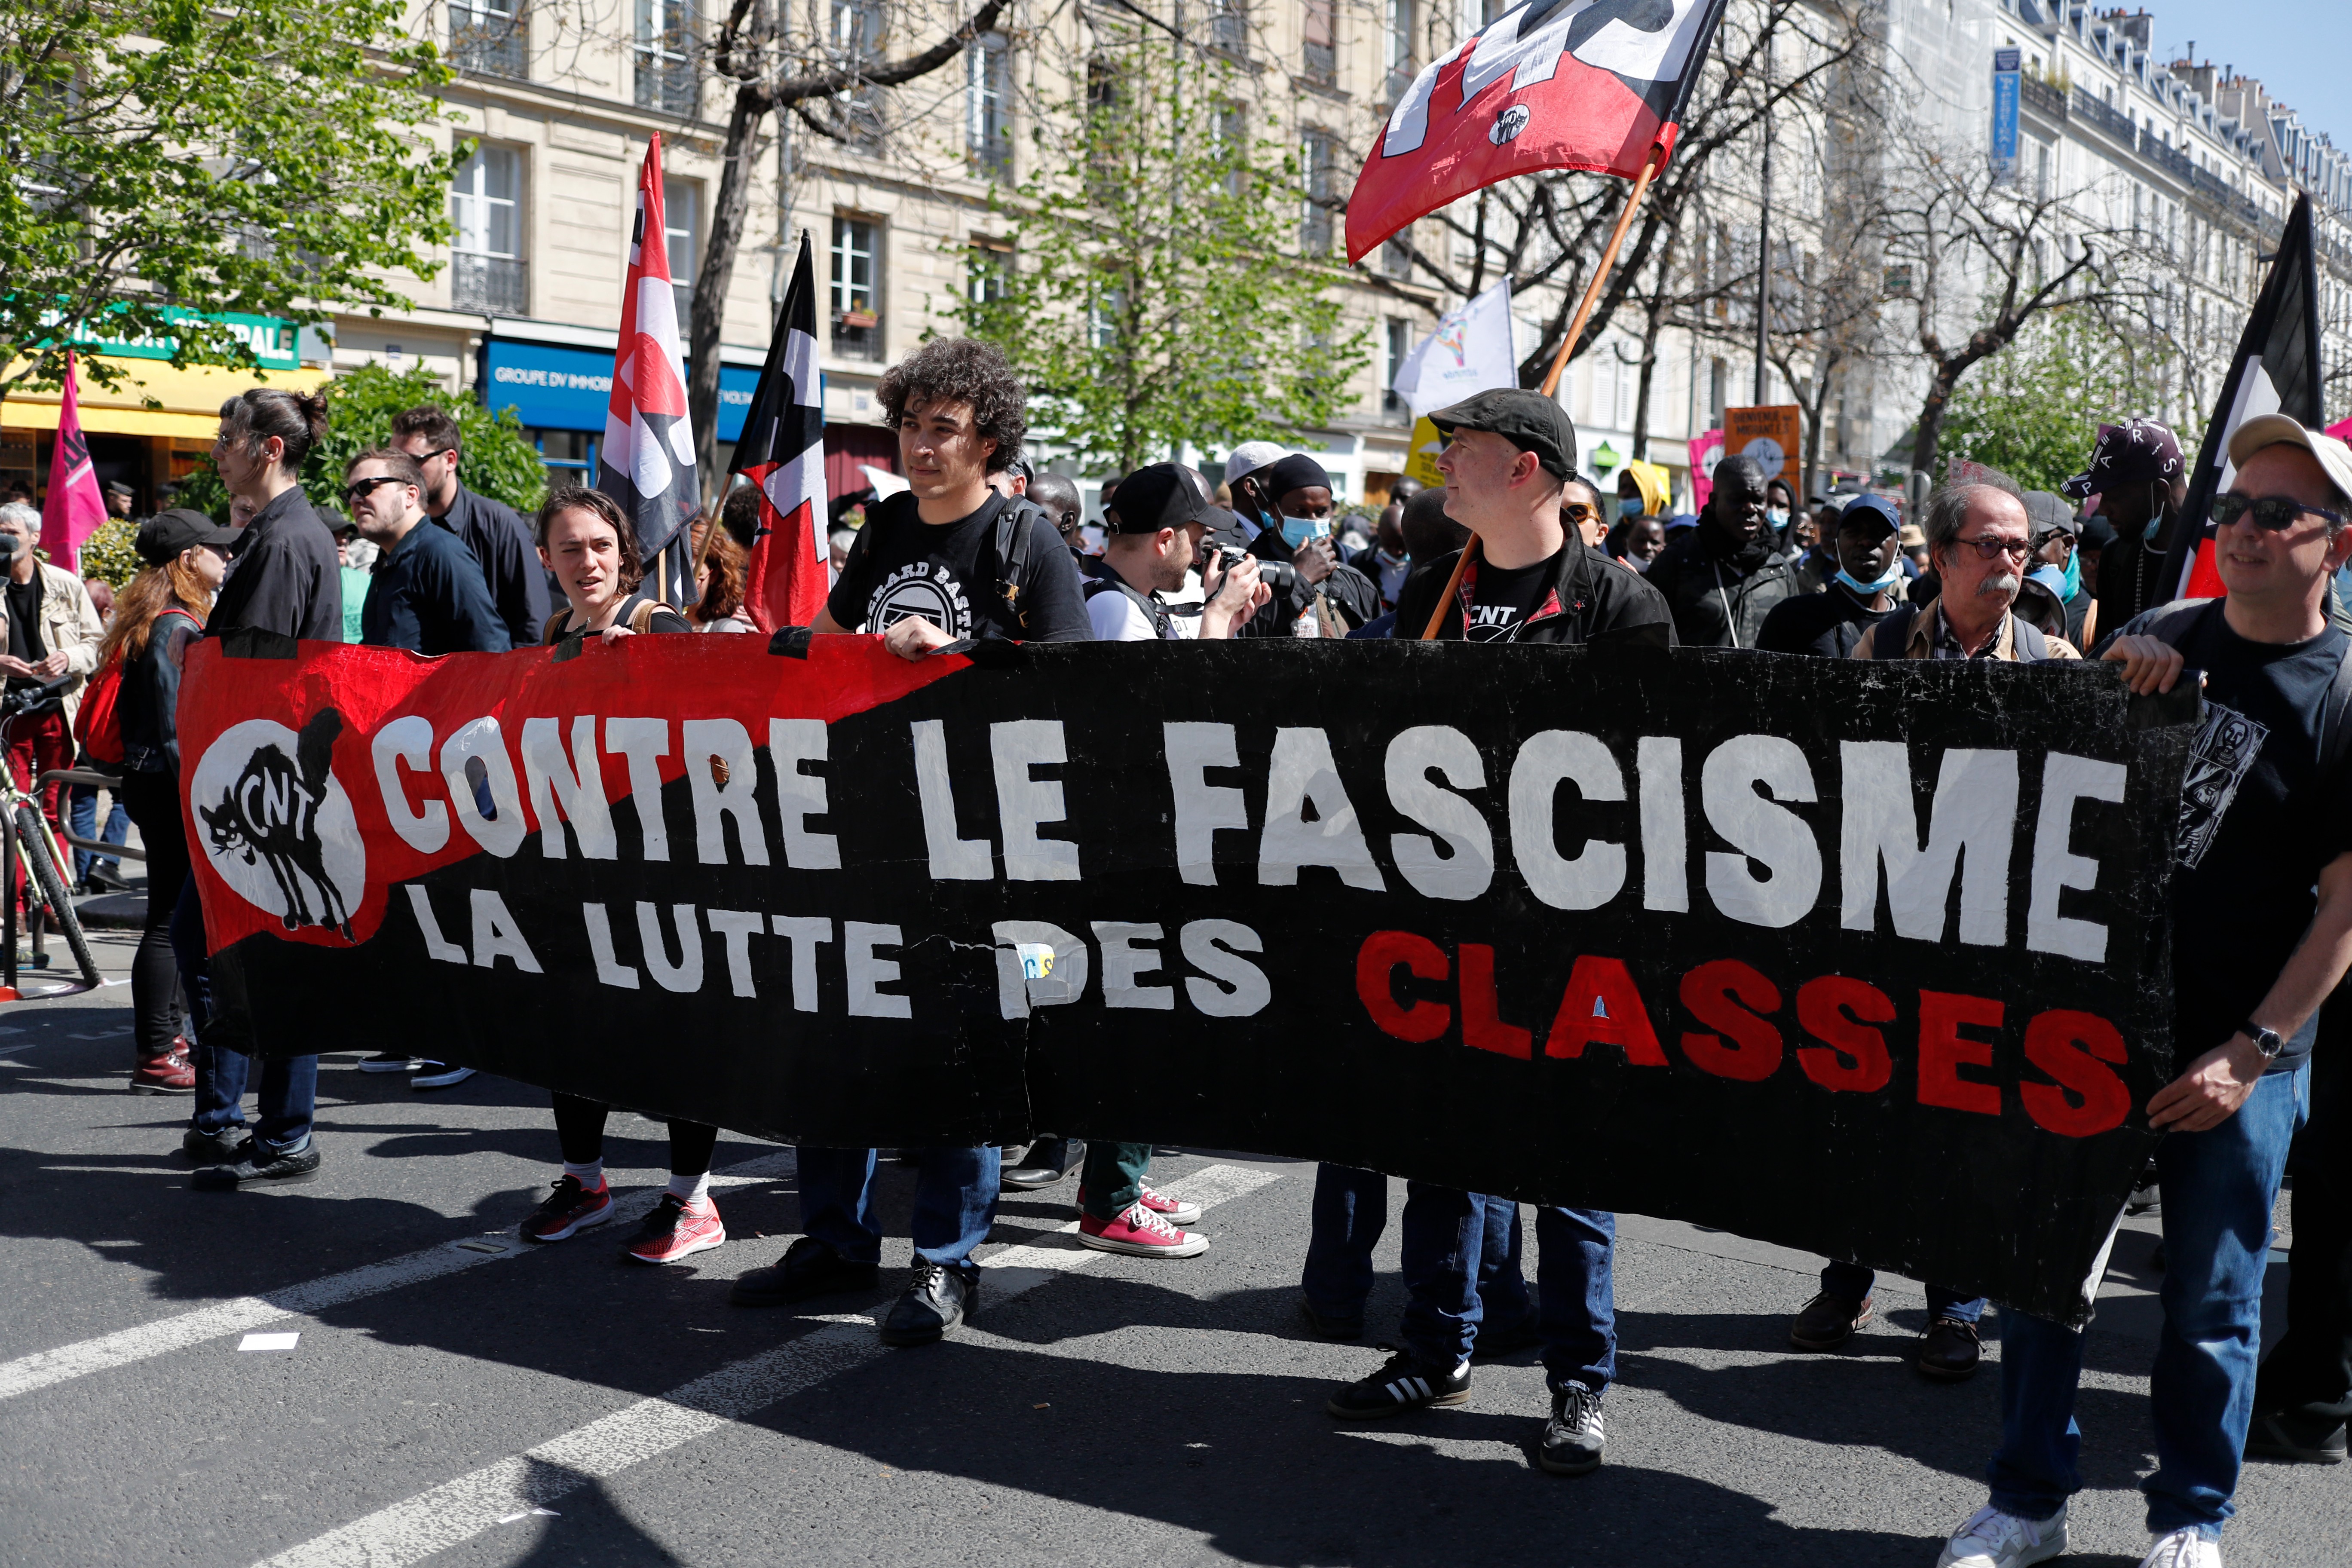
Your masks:
<svg viewBox="0 0 2352 1568"><path fill-rule="evenodd" d="M1336 214L1249 134L1232 71L1181 38L1098 52L1087 99L1042 115L1037 172L995 197L1007 249L969 256L953 320L1084 463L1296 440L1364 367L1367 334L1334 341Z"/></svg>

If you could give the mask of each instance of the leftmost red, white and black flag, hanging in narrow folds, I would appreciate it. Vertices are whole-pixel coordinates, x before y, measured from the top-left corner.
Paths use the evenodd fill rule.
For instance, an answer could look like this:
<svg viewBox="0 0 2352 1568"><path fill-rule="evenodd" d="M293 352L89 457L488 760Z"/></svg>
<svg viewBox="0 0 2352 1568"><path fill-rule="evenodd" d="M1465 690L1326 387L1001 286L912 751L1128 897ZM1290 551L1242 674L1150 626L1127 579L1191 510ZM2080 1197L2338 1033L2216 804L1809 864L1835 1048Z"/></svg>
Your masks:
<svg viewBox="0 0 2352 1568"><path fill-rule="evenodd" d="M612 355L612 402L595 487L621 503L637 529L644 581L670 604L694 602L687 524L703 508L687 418L687 355L677 346L677 289L661 205L661 132L637 172L637 226L628 237L621 341Z"/></svg>

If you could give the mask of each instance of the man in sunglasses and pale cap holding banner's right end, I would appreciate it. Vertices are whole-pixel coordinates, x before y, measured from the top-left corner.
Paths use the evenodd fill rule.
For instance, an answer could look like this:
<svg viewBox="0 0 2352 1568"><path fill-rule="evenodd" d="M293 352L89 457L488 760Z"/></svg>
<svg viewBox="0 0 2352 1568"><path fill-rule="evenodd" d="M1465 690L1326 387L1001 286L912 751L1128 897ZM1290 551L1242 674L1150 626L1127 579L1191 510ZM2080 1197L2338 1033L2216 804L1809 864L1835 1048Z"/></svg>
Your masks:
<svg viewBox="0 0 2352 1568"><path fill-rule="evenodd" d="M2256 1408L2270 1215L2310 1110L2314 1018L2352 964L2352 639L2326 616L2328 578L2352 557L2352 451L2263 414L2232 433L2230 461L2237 480L2213 501L2227 597L2145 611L2103 651L2140 693L2194 668L2206 701L2171 886L2180 1072L2147 1103L2166 1133L2157 1469L2140 1481L2157 1535L2145 1563L2159 1568L2220 1568ZM2077 1331L2004 1312L1992 1500L1945 1566L2065 1552L2079 1382Z"/></svg>

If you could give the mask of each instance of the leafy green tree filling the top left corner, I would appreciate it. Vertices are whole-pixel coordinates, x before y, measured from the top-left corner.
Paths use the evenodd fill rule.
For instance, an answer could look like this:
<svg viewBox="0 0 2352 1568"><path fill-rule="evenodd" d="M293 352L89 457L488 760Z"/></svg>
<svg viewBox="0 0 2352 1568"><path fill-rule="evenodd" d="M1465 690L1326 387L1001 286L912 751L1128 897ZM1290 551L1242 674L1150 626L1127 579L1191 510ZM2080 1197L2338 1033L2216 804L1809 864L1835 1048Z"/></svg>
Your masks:
<svg viewBox="0 0 2352 1568"><path fill-rule="evenodd" d="M82 341L254 367L216 315L409 306L447 237L449 71L402 0L0 0L0 400ZM99 386L122 371L82 360Z"/></svg>

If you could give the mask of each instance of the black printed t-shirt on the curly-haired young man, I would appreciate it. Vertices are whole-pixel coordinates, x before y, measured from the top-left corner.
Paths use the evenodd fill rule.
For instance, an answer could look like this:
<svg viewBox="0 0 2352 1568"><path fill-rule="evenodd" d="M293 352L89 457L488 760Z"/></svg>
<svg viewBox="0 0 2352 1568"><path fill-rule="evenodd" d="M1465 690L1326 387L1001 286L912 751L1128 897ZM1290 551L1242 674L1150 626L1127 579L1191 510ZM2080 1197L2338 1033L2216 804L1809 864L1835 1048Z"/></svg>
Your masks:
<svg viewBox="0 0 2352 1568"><path fill-rule="evenodd" d="M957 639L1089 642L1094 632L1077 574L1044 512L1030 515L1028 555L1016 583L1021 614L1004 607L997 592L1002 508L1004 498L995 491L981 510L941 524L924 522L906 491L866 508L866 527L826 611L851 632L887 632L908 616L922 616Z"/></svg>

